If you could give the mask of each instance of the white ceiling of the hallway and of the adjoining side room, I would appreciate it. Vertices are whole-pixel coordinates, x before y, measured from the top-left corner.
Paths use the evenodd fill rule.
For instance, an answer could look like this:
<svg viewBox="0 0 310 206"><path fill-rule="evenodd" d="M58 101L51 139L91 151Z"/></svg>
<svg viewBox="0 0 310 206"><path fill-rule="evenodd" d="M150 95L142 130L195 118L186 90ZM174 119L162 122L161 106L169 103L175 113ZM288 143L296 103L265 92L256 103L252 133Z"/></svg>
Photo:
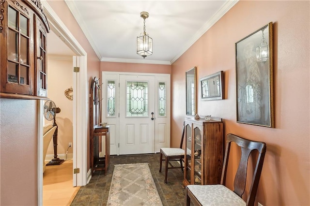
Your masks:
<svg viewBox="0 0 310 206"><path fill-rule="evenodd" d="M101 61L172 64L217 22L237 0L65 0ZM137 54L143 31L140 12L150 16L145 29L153 55ZM74 55L51 32L48 53Z"/></svg>

